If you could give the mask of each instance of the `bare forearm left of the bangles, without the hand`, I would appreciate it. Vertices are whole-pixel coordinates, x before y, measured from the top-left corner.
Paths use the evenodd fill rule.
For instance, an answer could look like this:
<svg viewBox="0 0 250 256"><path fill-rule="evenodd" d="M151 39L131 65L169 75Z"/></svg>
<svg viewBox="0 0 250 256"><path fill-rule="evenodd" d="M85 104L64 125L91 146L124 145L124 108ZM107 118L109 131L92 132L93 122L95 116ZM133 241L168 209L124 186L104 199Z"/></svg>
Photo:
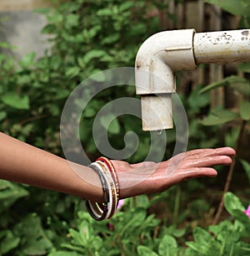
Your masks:
<svg viewBox="0 0 250 256"><path fill-rule="evenodd" d="M72 165L81 178L72 170ZM0 178L23 182L78 197L102 200L102 187L97 174L80 166L18 141L0 132ZM95 185L94 185L95 184Z"/></svg>

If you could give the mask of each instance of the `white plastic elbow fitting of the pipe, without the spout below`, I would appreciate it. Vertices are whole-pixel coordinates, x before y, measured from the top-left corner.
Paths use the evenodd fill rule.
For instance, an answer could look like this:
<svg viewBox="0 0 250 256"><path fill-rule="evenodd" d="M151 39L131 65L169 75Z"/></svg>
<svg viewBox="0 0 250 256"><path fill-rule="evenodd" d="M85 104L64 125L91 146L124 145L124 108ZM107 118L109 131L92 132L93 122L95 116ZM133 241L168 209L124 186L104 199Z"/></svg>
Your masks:
<svg viewBox="0 0 250 256"><path fill-rule="evenodd" d="M194 29L163 31L144 41L135 61L137 95L175 92L174 72L196 67L194 33Z"/></svg>

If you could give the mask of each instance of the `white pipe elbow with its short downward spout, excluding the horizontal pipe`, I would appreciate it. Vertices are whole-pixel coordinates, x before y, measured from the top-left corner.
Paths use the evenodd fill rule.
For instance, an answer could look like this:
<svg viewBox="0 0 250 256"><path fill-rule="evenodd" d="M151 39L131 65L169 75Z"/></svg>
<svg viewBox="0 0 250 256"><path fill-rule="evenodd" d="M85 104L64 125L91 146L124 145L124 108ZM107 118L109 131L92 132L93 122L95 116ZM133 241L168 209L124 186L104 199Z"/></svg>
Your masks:
<svg viewBox="0 0 250 256"><path fill-rule="evenodd" d="M194 29L164 31L148 38L135 62L136 93L141 95L143 131L173 128L175 71L194 69Z"/></svg>

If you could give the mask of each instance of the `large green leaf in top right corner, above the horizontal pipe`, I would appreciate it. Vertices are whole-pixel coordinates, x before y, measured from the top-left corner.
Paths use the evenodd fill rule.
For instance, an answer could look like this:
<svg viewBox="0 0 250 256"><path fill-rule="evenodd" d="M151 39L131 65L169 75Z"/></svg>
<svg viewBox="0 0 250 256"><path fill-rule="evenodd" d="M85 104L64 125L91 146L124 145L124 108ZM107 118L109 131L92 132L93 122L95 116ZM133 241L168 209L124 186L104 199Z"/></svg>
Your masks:
<svg viewBox="0 0 250 256"><path fill-rule="evenodd" d="M250 16L249 2L243 0L205 0L207 3L212 3L223 8L228 13L238 16Z"/></svg>

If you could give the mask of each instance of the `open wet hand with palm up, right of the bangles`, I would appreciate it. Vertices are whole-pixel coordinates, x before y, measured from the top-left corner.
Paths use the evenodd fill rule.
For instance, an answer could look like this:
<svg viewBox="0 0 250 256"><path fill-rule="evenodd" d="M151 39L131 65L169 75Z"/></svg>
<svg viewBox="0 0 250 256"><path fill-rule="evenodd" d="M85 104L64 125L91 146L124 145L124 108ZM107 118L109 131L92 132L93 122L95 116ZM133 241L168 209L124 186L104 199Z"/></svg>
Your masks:
<svg viewBox="0 0 250 256"><path fill-rule="evenodd" d="M216 177L212 167L230 165L235 151L230 147L198 149L173 156L168 161L145 161L130 165L113 160L121 189L121 198L163 192L179 182L196 177Z"/></svg>

